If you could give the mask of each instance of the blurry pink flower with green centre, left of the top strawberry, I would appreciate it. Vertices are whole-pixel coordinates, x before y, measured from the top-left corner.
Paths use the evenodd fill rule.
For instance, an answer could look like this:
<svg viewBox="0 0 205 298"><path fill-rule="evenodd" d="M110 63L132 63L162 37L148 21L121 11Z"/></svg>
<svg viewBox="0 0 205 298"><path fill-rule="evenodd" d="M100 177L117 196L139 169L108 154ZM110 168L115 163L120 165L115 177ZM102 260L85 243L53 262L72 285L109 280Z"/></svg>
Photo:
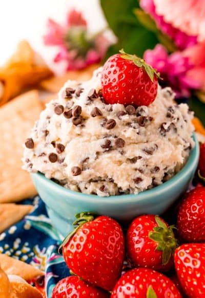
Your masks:
<svg viewBox="0 0 205 298"><path fill-rule="evenodd" d="M103 33L93 37L88 34L86 20L75 9L68 13L64 25L49 19L44 43L58 46L54 62L65 62L66 70L82 69L90 64L99 63L110 45Z"/></svg>

